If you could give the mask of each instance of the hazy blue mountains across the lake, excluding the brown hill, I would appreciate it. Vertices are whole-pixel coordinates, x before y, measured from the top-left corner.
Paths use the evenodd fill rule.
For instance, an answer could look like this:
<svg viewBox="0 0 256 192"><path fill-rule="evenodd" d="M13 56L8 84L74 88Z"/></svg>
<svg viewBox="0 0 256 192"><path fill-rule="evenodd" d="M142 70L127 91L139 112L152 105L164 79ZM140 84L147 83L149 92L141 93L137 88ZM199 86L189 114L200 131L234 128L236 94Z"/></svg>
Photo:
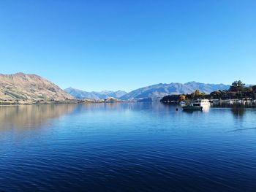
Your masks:
<svg viewBox="0 0 256 192"><path fill-rule="evenodd" d="M140 99L148 98L152 100L161 99L163 96L169 94L192 93L197 89L203 93L211 93L212 91L226 90L228 88L230 88L230 85L206 84L200 82L187 82L182 84L172 82L170 84L159 83L157 85L138 88L129 93L125 91L86 92L74 88L67 88L64 91L77 99L107 99L108 97L115 97L117 99L139 101Z"/></svg>

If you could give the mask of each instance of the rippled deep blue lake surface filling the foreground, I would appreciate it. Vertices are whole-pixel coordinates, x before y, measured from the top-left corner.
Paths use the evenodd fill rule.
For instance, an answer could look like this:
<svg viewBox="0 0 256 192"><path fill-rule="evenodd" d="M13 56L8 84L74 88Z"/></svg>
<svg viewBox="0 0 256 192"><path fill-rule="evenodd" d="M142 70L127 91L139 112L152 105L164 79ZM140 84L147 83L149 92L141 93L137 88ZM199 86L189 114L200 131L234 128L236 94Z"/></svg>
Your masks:
<svg viewBox="0 0 256 192"><path fill-rule="evenodd" d="M256 110L0 107L0 191L256 191Z"/></svg>

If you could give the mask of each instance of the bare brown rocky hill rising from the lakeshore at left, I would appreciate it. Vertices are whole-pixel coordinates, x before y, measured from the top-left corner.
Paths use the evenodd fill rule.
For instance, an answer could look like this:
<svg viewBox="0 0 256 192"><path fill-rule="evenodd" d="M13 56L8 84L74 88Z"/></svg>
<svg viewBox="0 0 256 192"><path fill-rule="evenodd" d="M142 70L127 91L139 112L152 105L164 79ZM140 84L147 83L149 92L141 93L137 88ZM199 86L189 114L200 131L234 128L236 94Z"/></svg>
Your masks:
<svg viewBox="0 0 256 192"><path fill-rule="evenodd" d="M73 99L57 85L36 74L0 74L1 100L55 100Z"/></svg>

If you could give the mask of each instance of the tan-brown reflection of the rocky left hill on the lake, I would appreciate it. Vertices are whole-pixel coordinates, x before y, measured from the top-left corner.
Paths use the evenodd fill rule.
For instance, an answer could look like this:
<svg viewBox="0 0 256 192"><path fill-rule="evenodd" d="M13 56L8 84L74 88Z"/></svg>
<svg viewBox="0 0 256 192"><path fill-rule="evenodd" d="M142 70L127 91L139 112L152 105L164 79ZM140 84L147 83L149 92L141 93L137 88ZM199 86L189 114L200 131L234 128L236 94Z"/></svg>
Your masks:
<svg viewBox="0 0 256 192"><path fill-rule="evenodd" d="M40 104L0 107L0 131L3 128L33 128L49 119L58 118L75 110L76 104ZM3 126L4 125L4 126Z"/></svg>

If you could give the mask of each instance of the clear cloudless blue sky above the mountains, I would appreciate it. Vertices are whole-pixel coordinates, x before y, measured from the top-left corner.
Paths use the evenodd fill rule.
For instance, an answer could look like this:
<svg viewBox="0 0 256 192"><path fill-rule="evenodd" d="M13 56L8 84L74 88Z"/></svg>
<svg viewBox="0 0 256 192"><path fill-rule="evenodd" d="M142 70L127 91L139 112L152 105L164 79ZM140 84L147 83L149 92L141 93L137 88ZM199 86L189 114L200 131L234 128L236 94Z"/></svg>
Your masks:
<svg viewBox="0 0 256 192"><path fill-rule="evenodd" d="M0 1L0 73L61 88L256 83L256 1Z"/></svg>

